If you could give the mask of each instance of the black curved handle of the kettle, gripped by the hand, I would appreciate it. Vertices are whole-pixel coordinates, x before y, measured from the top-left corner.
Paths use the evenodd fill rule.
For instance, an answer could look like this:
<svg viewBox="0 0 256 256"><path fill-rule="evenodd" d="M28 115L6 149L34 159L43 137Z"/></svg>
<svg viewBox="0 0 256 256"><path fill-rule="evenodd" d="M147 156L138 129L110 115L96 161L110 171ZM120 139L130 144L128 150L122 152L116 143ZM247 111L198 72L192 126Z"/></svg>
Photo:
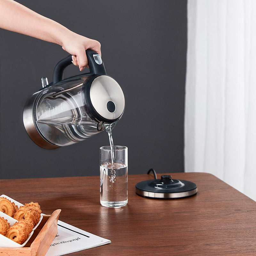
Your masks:
<svg viewBox="0 0 256 256"><path fill-rule="evenodd" d="M104 64L99 56L99 54L91 49L86 50L86 56L88 59L88 65L90 69L90 74L96 75L106 75L106 69ZM53 78L52 83L55 84L63 80L64 69L67 68L70 64L72 64L72 55L68 55L63 60L60 60L54 70L53 70Z"/></svg>

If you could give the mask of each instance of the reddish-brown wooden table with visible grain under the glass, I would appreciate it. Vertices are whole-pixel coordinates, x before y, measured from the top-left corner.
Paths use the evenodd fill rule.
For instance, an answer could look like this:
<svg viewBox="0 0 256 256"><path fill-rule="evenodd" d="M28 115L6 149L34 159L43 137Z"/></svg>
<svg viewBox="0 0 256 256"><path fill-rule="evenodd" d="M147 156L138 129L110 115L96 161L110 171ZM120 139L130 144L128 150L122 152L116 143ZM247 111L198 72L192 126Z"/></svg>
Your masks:
<svg viewBox="0 0 256 256"><path fill-rule="evenodd" d="M158 174L160 178L160 174ZM174 173L197 184L183 199L149 199L135 184L152 175L129 175L128 204L100 206L99 177L1 180L0 192L21 203L36 201L45 214L105 237L112 244L72 255L256 255L256 202L207 173Z"/></svg>

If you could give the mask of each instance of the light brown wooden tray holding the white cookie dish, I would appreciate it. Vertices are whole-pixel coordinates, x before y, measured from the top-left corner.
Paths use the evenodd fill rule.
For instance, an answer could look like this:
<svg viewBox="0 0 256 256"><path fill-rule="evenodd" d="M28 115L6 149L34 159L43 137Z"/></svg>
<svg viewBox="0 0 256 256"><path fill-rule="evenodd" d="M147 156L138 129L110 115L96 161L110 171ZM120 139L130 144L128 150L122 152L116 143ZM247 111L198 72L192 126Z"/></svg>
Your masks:
<svg viewBox="0 0 256 256"><path fill-rule="evenodd" d="M58 219L61 210L52 215L43 215L43 220L24 247L0 247L0 256L44 256L58 233Z"/></svg>

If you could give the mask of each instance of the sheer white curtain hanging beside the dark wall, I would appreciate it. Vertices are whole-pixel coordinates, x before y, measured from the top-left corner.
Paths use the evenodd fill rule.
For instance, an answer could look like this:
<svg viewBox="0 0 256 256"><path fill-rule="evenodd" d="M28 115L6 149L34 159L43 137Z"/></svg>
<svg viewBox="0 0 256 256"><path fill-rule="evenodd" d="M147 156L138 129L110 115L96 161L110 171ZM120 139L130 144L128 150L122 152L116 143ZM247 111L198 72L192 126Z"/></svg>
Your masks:
<svg viewBox="0 0 256 256"><path fill-rule="evenodd" d="M184 153L256 201L255 0L188 0Z"/></svg>

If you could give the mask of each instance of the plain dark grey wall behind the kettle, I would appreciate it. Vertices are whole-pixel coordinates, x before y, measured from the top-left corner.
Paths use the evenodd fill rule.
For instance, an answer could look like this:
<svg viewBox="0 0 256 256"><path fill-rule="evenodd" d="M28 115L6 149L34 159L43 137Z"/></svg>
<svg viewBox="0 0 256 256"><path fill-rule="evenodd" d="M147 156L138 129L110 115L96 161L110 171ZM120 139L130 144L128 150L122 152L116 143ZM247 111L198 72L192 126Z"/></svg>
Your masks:
<svg viewBox="0 0 256 256"><path fill-rule="evenodd" d="M126 108L114 144L129 148L129 173L183 172L187 1L18 1L100 41L107 74L121 85ZM46 150L28 137L23 106L52 81L67 56L59 45L1 30L1 179L98 175L107 133ZM66 76L79 73L69 67Z"/></svg>

